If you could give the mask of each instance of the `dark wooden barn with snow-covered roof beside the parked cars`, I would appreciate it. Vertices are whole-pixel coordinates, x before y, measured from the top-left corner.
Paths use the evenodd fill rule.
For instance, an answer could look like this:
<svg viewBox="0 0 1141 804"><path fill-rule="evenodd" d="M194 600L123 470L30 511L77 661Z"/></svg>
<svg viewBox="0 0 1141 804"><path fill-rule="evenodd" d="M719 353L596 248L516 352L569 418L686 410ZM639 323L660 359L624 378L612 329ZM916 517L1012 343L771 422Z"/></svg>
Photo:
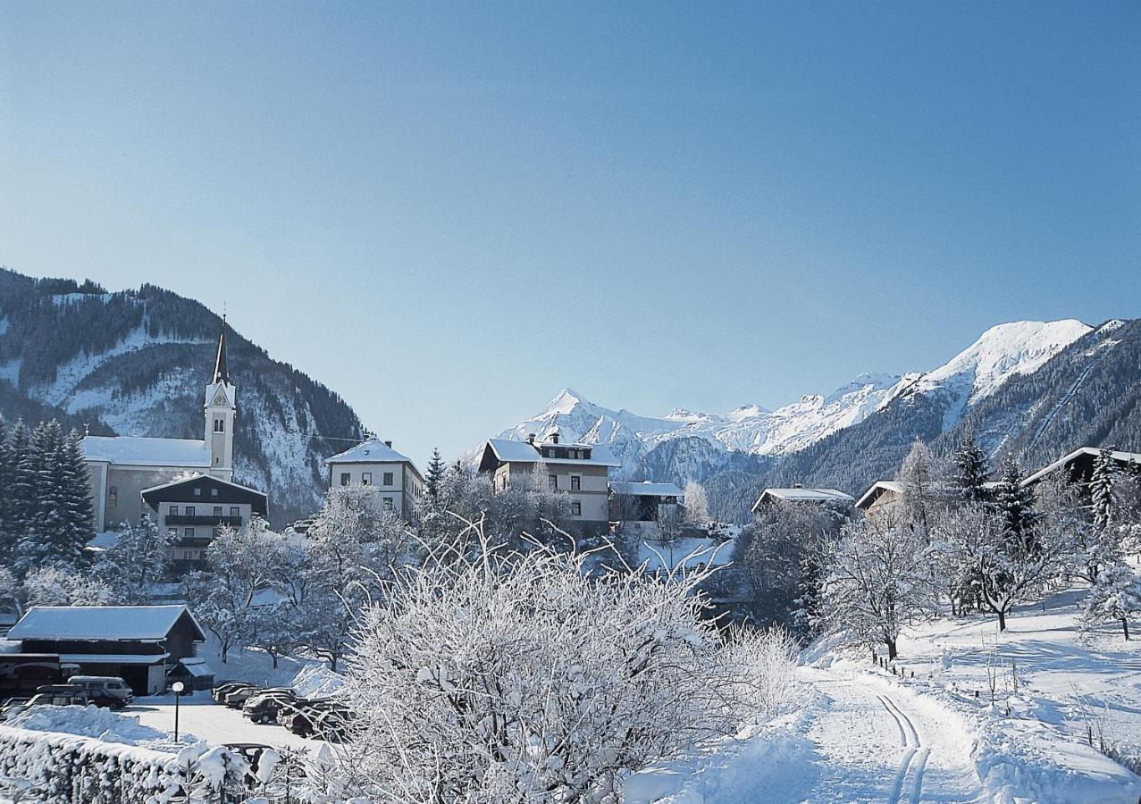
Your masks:
<svg viewBox="0 0 1141 804"><path fill-rule="evenodd" d="M33 606L8 639L22 653L56 655L81 675L118 675L148 696L207 637L185 606Z"/></svg>

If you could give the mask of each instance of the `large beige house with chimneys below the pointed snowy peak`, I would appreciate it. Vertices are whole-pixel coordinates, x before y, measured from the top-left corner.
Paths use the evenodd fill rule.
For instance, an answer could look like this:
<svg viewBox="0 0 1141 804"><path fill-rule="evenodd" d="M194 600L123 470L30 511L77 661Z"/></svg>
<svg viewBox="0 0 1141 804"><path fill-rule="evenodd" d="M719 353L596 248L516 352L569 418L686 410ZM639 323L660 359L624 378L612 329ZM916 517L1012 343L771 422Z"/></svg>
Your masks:
<svg viewBox="0 0 1141 804"><path fill-rule="evenodd" d="M548 438L489 439L479 457L479 471L491 476L496 492L545 482L550 490L569 495L573 522L586 529L608 527L610 470L622 464L604 446L565 444L558 432ZM545 480L536 474L545 474Z"/></svg>

